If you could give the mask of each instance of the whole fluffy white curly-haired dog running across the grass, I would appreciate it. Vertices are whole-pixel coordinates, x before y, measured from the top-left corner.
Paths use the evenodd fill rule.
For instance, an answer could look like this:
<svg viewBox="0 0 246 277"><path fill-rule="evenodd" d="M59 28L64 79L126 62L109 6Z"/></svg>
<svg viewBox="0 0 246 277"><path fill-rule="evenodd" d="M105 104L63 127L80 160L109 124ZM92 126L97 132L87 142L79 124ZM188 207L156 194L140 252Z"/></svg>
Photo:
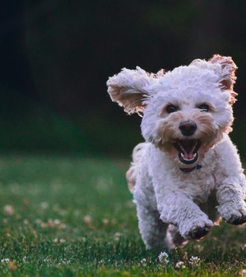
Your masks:
<svg viewBox="0 0 246 277"><path fill-rule="evenodd" d="M200 239L220 217L246 222L245 175L228 137L235 70L231 57L214 55L156 74L124 68L107 81L113 101L143 114L146 142L126 178L146 248Z"/></svg>

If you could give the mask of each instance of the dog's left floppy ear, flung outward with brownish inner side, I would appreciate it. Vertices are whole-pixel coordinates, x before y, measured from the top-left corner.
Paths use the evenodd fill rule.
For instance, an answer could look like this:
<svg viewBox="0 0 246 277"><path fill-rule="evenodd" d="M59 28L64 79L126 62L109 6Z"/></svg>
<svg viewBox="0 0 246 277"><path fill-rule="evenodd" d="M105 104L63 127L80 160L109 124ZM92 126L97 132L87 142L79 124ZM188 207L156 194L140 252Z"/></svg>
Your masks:
<svg viewBox="0 0 246 277"><path fill-rule="evenodd" d="M113 102L117 102L124 107L128 114L143 112L146 106L143 101L150 94L145 88L155 81L160 71L156 75L150 74L137 66L136 70L123 68L118 75L109 77L107 81L108 92ZM159 75L158 75L159 74Z"/></svg>

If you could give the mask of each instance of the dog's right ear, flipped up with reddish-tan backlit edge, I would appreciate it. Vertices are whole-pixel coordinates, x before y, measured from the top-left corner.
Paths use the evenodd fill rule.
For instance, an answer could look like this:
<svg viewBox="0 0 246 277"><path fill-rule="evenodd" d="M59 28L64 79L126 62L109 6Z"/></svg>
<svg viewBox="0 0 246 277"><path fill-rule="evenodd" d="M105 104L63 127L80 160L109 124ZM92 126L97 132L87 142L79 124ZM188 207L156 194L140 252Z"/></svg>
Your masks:
<svg viewBox="0 0 246 277"><path fill-rule="evenodd" d="M236 101L237 93L233 91L234 83L236 82L235 72L237 69L236 64L233 62L232 57L223 57L221 55L213 55L208 60L211 64L219 64L221 66L221 89L231 90L231 104Z"/></svg>

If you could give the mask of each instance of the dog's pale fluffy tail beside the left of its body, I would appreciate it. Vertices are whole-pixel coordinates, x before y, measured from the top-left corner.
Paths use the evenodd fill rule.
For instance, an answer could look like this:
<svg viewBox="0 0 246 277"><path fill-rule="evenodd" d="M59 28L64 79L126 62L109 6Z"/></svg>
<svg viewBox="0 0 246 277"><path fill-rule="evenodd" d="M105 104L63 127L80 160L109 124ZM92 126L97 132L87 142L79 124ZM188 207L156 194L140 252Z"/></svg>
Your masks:
<svg viewBox="0 0 246 277"><path fill-rule="evenodd" d="M128 189L130 190L130 192L133 192L133 189L135 187L139 161L141 160L143 151L145 150L147 145L148 143L141 142L140 144L137 144L137 146L135 146L135 148L133 149L133 161L130 168L126 171L126 180L128 182Z"/></svg>

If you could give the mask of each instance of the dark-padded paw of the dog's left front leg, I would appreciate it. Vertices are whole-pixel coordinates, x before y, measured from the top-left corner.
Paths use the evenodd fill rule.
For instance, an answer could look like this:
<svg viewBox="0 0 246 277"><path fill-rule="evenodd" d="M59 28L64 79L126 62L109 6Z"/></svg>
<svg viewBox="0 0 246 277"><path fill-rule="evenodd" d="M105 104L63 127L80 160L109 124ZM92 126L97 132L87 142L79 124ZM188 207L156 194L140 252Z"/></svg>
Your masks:
<svg viewBox="0 0 246 277"><path fill-rule="evenodd" d="M184 239L201 239L205 235L208 234L210 228L213 226L213 222L211 220L196 220L193 222L184 223L185 232L182 233L182 237Z"/></svg>

